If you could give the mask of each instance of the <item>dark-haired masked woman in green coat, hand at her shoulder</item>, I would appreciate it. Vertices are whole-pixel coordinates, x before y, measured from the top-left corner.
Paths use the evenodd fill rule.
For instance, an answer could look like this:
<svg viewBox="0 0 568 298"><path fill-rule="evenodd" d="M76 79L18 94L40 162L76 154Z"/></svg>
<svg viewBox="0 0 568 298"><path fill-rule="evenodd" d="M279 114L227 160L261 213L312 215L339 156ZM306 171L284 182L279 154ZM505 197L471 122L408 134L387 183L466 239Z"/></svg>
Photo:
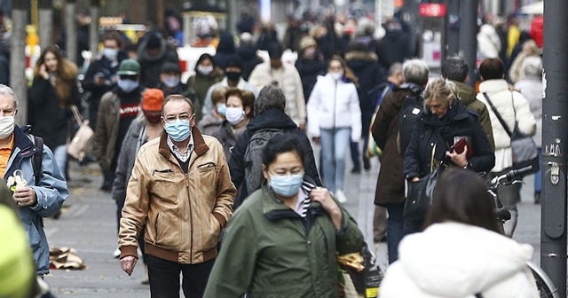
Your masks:
<svg viewBox="0 0 568 298"><path fill-rule="evenodd" d="M230 220L205 297L338 297L336 256L361 251L363 235L303 161L294 136L266 143L265 182Z"/></svg>

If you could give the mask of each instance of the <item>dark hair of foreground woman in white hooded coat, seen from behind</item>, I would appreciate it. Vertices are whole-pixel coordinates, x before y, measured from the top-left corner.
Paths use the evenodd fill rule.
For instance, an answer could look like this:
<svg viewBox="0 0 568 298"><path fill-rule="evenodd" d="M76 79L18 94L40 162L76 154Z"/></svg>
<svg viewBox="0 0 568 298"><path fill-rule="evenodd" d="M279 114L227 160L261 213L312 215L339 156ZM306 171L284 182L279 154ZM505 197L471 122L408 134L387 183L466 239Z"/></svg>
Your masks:
<svg viewBox="0 0 568 298"><path fill-rule="evenodd" d="M424 227L456 222L501 232L493 214L495 202L484 181L467 169L449 169L438 181Z"/></svg>

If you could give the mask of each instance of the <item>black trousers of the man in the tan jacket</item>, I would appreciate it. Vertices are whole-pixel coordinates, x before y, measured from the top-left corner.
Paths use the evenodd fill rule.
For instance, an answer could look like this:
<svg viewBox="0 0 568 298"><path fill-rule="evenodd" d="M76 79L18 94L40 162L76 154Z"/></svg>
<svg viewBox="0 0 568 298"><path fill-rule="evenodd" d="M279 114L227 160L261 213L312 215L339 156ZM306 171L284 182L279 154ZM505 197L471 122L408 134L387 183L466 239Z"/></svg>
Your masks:
<svg viewBox="0 0 568 298"><path fill-rule="evenodd" d="M179 273L186 298L201 298L215 259L205 263L181 264L166 261L154 255L146 255L150 294L152 298L179 298Z"/></svg>

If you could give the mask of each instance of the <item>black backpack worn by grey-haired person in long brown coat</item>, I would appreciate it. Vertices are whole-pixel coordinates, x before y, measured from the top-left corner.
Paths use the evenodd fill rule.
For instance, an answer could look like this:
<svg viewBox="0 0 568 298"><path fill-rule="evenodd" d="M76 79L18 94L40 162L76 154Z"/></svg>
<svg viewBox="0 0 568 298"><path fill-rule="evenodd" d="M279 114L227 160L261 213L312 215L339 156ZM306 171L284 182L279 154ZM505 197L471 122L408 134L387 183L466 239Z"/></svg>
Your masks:
<svg viewBox="0 0 568 298"><path fill-rule="evenodd" d="M407 95L400 108L400 117L398 118L398 153L405 156L406 147L410 143L410 137L424 110L424 98L422 98L422 87L414 83L405 83L398 89L412 90L413 94Z"/></svg>

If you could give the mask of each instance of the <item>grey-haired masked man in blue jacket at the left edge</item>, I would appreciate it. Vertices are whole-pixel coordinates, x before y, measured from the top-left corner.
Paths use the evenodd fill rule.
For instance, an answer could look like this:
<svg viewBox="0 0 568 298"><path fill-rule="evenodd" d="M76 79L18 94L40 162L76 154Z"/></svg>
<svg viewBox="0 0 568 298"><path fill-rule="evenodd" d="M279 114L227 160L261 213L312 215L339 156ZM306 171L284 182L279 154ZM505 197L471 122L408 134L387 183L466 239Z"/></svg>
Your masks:
<svg viewBox="0 0 568 298"><path fill-rule="evenodd" d="M43 217L54 216L69 192L51 149L47 145L36 145L32 137L15 125L16 114L16 94L0 84L0 173L13 192L20 221L28 233L36 273L43 276L50 272L50 250L43 231ZM41 164L34 165L38 161L34 158L36 154L42 154Z"/></svg>

